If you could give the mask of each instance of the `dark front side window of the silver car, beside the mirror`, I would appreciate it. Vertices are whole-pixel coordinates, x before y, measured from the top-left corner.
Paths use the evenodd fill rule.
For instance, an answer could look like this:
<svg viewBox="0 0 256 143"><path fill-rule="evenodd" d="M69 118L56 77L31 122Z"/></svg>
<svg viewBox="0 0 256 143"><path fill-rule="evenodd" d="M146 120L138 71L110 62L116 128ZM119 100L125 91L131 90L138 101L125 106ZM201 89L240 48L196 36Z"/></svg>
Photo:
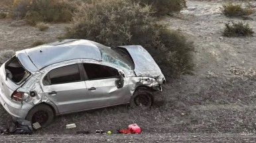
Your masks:
<svg viewBox="0 0 256 143"><path fill-rule="evenodd" d="M104 65L84 63L84 69L86 70L89 80L99 78L111 78L119 75L117 69L113 69Z"/></svg>

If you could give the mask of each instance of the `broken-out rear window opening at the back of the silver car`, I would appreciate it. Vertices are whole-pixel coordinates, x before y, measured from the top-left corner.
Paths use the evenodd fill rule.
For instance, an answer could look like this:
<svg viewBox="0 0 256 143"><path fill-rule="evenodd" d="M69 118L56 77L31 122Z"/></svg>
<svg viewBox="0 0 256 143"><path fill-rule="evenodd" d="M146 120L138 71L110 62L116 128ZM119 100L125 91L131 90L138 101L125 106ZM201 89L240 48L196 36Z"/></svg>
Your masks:
<svg viewBox="0 0 256 143"><path fill-rule="evenodd" d="M30 73L23 68L17 57L12 57L7 61L5 73L7 78L11 79L16 84L21 84L30 76Z"/></svg>

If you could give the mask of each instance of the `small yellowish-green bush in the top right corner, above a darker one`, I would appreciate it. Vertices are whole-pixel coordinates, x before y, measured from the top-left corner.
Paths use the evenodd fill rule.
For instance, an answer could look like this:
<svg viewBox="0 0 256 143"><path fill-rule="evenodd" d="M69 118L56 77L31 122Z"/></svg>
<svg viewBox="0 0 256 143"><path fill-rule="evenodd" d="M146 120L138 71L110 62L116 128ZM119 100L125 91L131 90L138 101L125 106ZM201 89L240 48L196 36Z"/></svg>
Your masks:
<svg viewBox="0 0 256 143"><path fill-rule="evenodd" d="M222 13L225 16L245 16L253 13L249 7L242 7L240 4L227 3L222 6Z"/></svg>

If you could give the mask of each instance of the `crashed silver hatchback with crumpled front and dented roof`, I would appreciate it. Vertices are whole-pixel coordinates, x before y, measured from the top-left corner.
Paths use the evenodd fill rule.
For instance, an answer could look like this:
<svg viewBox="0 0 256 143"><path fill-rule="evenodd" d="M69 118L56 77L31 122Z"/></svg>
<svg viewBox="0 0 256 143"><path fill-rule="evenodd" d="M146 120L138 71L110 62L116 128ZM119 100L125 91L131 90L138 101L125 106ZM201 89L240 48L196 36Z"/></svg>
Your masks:
<svg viewBox="0 0 256 143"><path fill-rule="evenodd" d="M61 40L17 51L1 65L0 82L13 119L44 127L66 113L125 103L147 109L165 78L141 45Z"/></svg>

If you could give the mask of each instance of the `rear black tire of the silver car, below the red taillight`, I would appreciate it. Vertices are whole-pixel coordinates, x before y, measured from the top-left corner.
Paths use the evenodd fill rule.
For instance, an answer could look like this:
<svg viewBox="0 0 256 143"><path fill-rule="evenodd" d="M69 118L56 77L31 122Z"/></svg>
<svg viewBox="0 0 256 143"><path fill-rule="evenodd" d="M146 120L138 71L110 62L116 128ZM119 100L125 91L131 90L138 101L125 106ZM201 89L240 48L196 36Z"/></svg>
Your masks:
<svg viewBox="0 0 256 143"><path fill-rule="evenodd" d="M41 127L46 127L52 123L54 119L54 112L45 104L36 105L27 114L26 120L31 123L40 123Z"/></svg>

